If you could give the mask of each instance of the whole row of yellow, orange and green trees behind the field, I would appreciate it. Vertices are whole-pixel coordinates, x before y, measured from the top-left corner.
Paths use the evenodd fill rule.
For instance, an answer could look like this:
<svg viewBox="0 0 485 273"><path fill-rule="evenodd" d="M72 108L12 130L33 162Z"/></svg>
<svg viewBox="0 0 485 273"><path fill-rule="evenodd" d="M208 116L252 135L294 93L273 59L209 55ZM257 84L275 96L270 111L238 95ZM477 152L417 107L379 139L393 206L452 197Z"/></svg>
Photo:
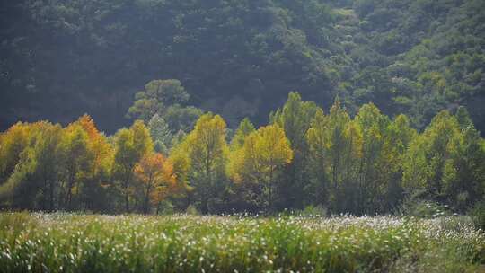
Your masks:
<svg viewBox="0 0 485 273"><path fill-rule="evenodd" d="M154 113L156 115L156 113ZM149 213L171 203L202 213L387 213L418 196L463 211L485 193L485 141L464 108L441 111L422 133L374 104L350 117L291 92L269 125L234 131L206 113L157 153L144 121L105 137L84 115L66 128L17 123L0 135L4 208ZM231 135L231 136L229 136ZM157 138L158 137L158 138Z"/></svg>

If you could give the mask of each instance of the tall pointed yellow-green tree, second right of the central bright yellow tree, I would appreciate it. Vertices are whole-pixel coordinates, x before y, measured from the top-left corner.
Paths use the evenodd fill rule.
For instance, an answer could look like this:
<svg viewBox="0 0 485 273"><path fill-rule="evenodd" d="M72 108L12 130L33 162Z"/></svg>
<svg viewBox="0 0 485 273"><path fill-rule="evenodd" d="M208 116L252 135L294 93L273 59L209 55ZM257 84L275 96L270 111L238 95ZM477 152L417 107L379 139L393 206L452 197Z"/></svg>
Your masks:
<svg viewBox="0 0 485 273"><path fill-rule="evenodd" d="M308 129L312 189L315 200L334 211L357 213L362 128L336 98L329 115L317 110Z"/></svg>

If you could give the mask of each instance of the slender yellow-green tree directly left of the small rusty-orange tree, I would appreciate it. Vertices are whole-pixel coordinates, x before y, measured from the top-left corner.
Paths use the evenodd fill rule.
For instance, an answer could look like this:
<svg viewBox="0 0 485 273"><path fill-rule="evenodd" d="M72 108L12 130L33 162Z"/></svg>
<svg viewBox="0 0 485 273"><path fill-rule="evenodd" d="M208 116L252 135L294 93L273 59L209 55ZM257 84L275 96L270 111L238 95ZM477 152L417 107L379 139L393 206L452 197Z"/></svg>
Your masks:
<svg viewBox="0 0 485 273"><path fill-rule="evenodd" d="M132 176L137 162L153 150L148 128L137 120L130 128L120 129L115 136L114 176L124 197L125 211L129 212L129 199L133 195Z"/></svg>

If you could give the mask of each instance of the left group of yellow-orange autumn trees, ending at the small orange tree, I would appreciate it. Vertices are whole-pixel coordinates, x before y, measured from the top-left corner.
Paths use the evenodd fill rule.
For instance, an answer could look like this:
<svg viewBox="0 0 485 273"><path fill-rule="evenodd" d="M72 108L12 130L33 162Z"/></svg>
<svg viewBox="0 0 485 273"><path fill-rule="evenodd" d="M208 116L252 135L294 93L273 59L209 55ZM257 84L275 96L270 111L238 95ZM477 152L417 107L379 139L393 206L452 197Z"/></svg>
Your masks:
<svg viewBox="0 0 485 273"><path fill-rule="evenodd" d="M5 207L118 211L122 204L146 213L179 186L142 121L114 137L101 134L87 115L66 128L19 122L1 135L0 147Z"/></svg>

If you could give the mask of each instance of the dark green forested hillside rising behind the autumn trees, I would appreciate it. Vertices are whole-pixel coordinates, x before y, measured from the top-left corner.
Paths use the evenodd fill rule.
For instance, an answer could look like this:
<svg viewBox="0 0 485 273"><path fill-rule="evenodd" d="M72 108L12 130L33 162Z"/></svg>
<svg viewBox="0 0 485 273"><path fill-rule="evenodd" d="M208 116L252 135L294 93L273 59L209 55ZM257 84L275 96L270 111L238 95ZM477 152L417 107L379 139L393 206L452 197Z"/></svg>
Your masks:
<svg viewBox="0 0 485 273"><path fill-rule="evenodd" d="M424 128L464 105L485 130L482 0L21 0L0 3L0 128L130 124L135 92L178 79L185 105L267 120L290 91L351 116L372 101ZM190 111L197 111L192 108ZM197 116L197 115L196 115Z"/></svg>

